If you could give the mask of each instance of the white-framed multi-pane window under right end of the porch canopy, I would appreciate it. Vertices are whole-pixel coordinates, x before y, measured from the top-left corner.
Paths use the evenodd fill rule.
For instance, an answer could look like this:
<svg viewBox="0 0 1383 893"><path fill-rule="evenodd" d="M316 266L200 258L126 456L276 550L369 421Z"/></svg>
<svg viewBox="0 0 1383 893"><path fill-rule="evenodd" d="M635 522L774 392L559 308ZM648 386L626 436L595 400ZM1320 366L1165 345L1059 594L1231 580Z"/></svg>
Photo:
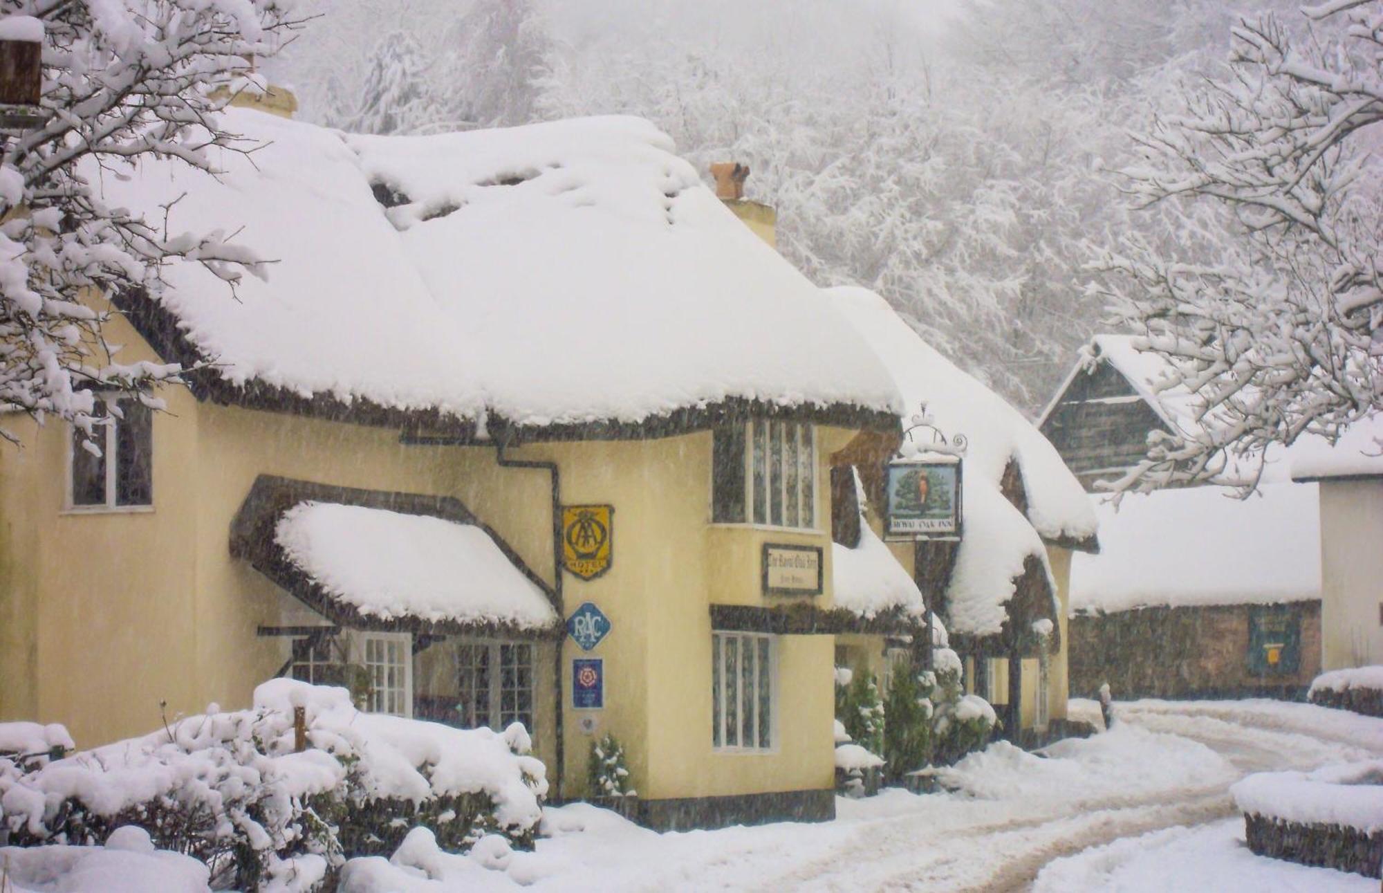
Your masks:
<svg viewBox="0 0 1383 893"><path fill-rule="evenodd" d="M456 647L458 711L467 728L523 723L532 734L532 644L465 641Z"/></svg>

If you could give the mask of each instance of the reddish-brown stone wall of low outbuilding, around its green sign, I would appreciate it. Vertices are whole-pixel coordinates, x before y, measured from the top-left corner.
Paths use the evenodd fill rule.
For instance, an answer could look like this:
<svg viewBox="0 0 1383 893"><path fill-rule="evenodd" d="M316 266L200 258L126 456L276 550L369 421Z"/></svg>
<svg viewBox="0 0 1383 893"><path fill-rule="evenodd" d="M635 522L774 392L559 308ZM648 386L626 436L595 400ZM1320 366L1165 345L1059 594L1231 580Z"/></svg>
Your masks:
<svg viewBox="0 0 1383 893"><path fill-rule="evenodd" d="M1293 673L1249 665L1253 605L1138 608L1070 618L1070 694L1098 697L1109 683L1129 698L1304 698L1321 672L1321 603L1285 605L1300 618Z"/></svg>

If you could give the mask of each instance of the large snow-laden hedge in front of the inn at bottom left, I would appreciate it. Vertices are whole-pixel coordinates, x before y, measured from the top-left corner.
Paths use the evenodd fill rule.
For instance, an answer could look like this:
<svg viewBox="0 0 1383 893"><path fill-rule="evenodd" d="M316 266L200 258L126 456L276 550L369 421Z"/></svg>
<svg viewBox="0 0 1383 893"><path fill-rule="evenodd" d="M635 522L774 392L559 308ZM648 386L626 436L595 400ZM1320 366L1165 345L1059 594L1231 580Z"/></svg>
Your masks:
<svg viewBox="0 0 1383 893"><path fill-rule="evenodd" d="M393 852L414 827L447 849L490 832L530 843L548 785L528 748L517 724L501 734L361 713L344 688L275 679L249 711L213 705L30 771L0 759L0 824L19 845L94 845L138 825L210 865L213 882L307 889L349 856Z"/></svg>

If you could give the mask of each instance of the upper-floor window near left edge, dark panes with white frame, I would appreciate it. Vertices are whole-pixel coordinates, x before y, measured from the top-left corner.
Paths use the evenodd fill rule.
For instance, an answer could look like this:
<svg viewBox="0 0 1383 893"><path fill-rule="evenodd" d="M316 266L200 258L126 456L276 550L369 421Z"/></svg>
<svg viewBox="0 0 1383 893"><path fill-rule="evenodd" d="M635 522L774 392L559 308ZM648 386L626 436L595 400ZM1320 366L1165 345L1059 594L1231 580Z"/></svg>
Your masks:
<svg viewBox="0 0 1383 893"><path fill-rule="evenodd" d="M98 394L93 415L109 422L95 427L90 442L84 433L72 429L68 505L73 509L154 505L154 411L133 397ZM93 445L101 455L90 449Z"/></svg>

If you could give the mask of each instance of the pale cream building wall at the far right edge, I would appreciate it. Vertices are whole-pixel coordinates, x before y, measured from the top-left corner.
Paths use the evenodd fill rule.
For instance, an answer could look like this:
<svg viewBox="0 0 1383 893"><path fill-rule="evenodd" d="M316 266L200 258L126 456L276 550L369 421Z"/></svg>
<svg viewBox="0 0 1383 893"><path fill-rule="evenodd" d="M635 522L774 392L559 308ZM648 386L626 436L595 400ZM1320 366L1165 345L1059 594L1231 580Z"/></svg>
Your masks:
<svg viewBox="0 0 1383 893"><path fill-rule="evenodd" d="M1321 481L1322 669L1383 662L1383 481Z"/></svg>

